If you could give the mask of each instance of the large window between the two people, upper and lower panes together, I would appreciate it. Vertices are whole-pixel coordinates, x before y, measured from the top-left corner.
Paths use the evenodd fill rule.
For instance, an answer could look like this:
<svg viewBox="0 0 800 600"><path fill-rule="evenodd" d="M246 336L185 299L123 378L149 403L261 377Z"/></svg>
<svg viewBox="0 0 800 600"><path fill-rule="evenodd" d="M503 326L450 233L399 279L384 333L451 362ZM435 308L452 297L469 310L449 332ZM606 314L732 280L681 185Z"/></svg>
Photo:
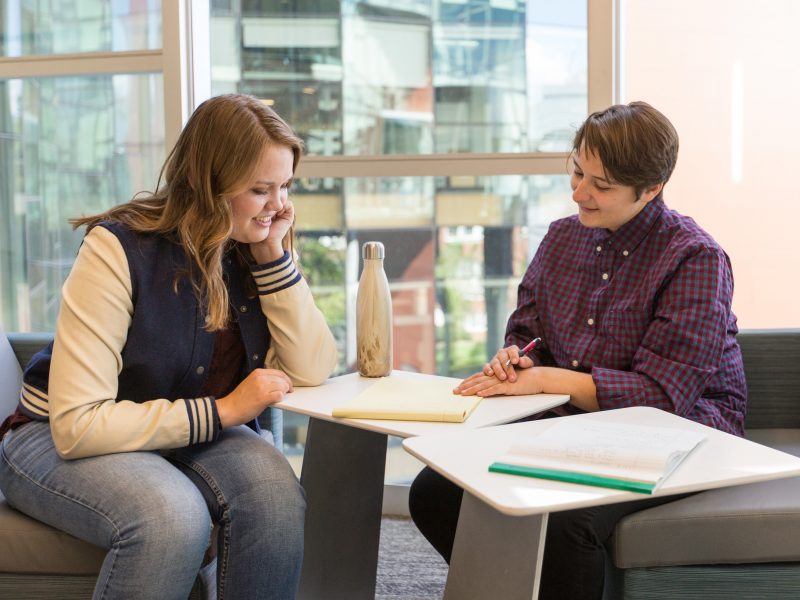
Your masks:
<svg viewBox="0 0 800 600"><path fill-rule="evenodd" d="M212 92L272 105L305 141L304 172L342 158L294 189L301 264L340 373L355 369L368 240L387 249L395 368L462 377L502 346L533 252L571 212L566 159L537 160L567 151L587 112L586 12L585 0L214 4ZM513 175L458 162L514 153L530 164ZM433 173L410 164L419 155L455 159ZM306 421L285 419L286 449L301 452ZM389 480L419 468L396 440L389 455Z"/></svg>

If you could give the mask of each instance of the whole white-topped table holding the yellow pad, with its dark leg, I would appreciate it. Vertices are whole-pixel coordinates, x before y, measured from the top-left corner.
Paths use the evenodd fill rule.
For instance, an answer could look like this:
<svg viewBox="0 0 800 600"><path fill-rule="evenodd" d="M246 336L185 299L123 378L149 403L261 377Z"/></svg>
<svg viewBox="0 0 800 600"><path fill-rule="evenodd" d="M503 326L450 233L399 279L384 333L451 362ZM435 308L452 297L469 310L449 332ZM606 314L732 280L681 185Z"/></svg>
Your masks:
<svg viewBox="0 0 800 600"><path fill-rule="evenodd" d="M460 381L405 371L393 371L391 377L400 382L451 379L453 387ZM374 598L388 435L470 431L516 421L569 400L561 394L486 398L464 423L331 416L335 406L376 381L357 373L342 375L318 387L295 388L274 405L311 417L300 477L308 506L299 598Z"/></svg>

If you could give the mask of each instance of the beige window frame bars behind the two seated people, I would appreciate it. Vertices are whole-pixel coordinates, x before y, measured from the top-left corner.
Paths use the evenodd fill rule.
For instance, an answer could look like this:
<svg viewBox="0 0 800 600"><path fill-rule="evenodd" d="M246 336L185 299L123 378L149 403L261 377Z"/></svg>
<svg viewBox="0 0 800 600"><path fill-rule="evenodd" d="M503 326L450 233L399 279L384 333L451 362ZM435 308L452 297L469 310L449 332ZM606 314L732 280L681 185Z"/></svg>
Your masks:
<svg viewBox="0 0 800 600"><path fill-rule="evenodd" d="M620 0L587 0L587 114L620 95ZM0 57L0 79L116 73L163 76L165 148L211 95L210 1L163 0L162 47L156 50ZM568 152L307 156L306 178L460 175L563 175ZM386 484L384 513L407 511L408 485Z"/></svg>

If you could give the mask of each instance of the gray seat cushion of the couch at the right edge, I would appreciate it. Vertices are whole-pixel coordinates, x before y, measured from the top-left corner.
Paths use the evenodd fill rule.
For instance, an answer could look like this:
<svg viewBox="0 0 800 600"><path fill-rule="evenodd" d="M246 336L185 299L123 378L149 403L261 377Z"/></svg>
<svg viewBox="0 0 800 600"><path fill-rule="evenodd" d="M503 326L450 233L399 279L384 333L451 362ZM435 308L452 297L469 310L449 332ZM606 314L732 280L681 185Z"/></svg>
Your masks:
<svg viewBox="0 0 800 600"><path fill-rule="evenodd" d="M622 519L621 568L800 560L800 477L701 492Z"/></svg>

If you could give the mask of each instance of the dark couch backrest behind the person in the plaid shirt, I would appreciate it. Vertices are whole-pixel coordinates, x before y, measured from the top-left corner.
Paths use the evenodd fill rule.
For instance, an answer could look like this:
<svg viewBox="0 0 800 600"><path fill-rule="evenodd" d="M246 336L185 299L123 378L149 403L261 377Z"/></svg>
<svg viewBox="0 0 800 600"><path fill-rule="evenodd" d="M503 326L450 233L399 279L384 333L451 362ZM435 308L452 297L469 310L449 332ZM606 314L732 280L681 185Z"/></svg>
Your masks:
<svg viewBox="0 0 800 600"><path fill-rule="evenodd" d="M744 329L745 428L800 428L800 329Z"/></svg>

